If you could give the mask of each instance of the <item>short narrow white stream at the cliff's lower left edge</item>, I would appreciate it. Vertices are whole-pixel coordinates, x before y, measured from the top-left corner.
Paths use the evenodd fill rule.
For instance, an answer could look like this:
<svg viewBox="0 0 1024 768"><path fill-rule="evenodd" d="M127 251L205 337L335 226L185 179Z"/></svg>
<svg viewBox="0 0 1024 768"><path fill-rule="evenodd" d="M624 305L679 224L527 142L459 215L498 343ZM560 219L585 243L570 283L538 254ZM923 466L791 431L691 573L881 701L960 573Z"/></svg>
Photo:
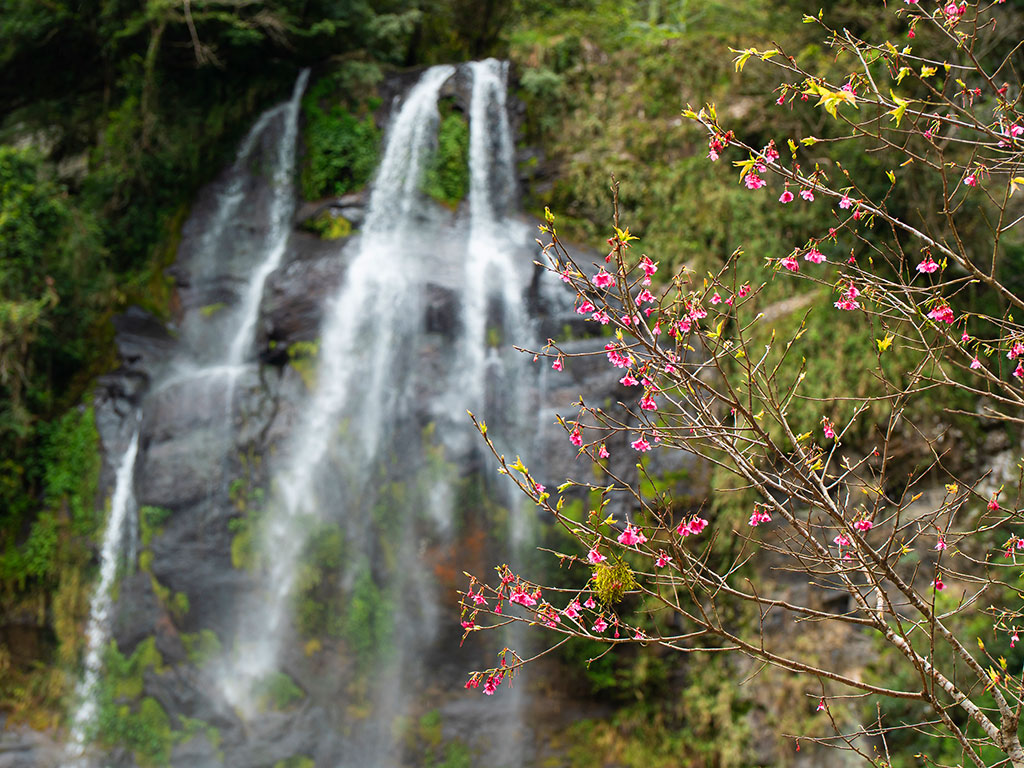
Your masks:
<svg viewBox="0 0 1024 768"><path fill-rule="evenodd" d="M135 513L135 496L132 483L135 479L135 457L138 453L138 426L141 418L135 416L136 426L128 446L118 462L114 480L114 496L111 513L103 530L103 541L99 551L99 581L89 600L89 624L86 629L85 662L82 678L75 692L77 709L71 716L71 740L68 743L68 758L75 766L84 766L85 751L89 731L94 727L97 702L96 685L103 670L103 651L111 639L111 623L114 607L111 588L117 575L118 564L124 545L129 518Z"/></svg>

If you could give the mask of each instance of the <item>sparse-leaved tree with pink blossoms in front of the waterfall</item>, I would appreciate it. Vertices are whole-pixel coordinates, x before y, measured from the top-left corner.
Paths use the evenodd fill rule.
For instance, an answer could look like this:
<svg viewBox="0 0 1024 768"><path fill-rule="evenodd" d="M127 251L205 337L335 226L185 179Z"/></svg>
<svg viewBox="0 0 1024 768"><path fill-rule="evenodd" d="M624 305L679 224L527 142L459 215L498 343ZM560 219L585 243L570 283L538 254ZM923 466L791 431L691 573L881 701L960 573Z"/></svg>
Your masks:
<svg viewBox="0 0 1024 768"><path fill-rule="evenodd" d="M827 732L810 736L826 745L890 765L890 743L920 732L943 739L932 741L939 761L1024 766L1024 676L1010 651L1024 627L1024 470L979 468L965 436L1002 427L1018 439L1024 406L1022 45L1000 5L908 0L894 10L911 38L901 46L805 16L826 35L827 72L778 46L735 51L737 71L756 58L781 73L777 109L824 117L822 136L762 145L714 105L683 113L707 130L709 160L732 159L750 194L773 185L780 206L820 211L805 241L765 255L763 281L743 279L740 250L706 274L658 280L657 255L635 256L636 236L621 228L614 183L603 264L578 261L547 214L548 267L575 291L577 311L611 332L597 353L630 394L614 409L572 403L562 426L603 476L552 492L477 423L499 470L577 543L554 552L577 577L569 588L507 565L497 583L471 577L467 633L525 622L560 636L551 648L589 638L737 651L818 681ZM779 332L761 300L779 281L831 291L829 312ZM809 339L840 343L854 328L871 345L866 383L814 381ZM554 340L534 354L555 371L573 357ZM925 421L934 412L944 425ZM636 452L635 474L609 464L614 439ZM658 493L648 452L696 455L749 518ZM567 500L580 492L594 501L577 519ZM605 511L622 495L631 519ZM765 579L768 568L800 574L802 589ZM870 638L892 674L869 680L842 659L792 652L769 628L777 615ZM505 649L467 687L494 693L528 660ZM847 697L870 706L845 708Z"/></svg>

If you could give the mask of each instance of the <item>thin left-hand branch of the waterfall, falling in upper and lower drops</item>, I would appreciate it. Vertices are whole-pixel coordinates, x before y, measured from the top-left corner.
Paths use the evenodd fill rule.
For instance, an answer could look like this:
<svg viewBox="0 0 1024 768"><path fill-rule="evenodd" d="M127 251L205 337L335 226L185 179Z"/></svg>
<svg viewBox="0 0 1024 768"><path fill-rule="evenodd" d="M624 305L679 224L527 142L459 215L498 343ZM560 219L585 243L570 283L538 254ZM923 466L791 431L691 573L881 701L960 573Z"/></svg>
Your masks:
<svg viewBox="0 0 1024 768"><path fill-rule="evenodd" d="M223 421L217 427L219 436L229 437L228 419L236 381L245 370L250 354L253 330L259 313L260 298L267 276L281 264L288 245L295 212L296 140L302 94L309 78L303 70L296 79L289 101L271 108L259 119L243 139L228 170L228 181L217 196L213 213L191 254L194 282L212 280L224 270L241 272L244 290L239 306L225 309L214 324L202 310L187 311L182 349L177 359L158 376L154 394L171 387L187 387L193 398L216 398L223 401L219 411ZM270 169L270 200L266 207L269 228L258 248L249 251L232 242L230 226L242 205L251 197L254 178L249 165L261 141L275 123L281 123ZM252 255L262 255L253 265ZM210 326L213 328L210 328ZM225 343L226 342L226 343ZM143 403L144 406L144 403ZM82 678L76 691L77 710L70 716L71 736L67 746L69 760L76 768L87 765L88 739L95 726L98 702L96 688L103 670L103 653L111 640L114 618L112 587L118 564L127 555L133 560L136 552L137 520L132 483L138 456L142 409L135 414L134 431L124 455L116 463L118 469L110 519L100 551L99 581L89 604L87 645ZM127 540L127 541L126 541ZM127 546L127 549L125 547Z"/></svg>

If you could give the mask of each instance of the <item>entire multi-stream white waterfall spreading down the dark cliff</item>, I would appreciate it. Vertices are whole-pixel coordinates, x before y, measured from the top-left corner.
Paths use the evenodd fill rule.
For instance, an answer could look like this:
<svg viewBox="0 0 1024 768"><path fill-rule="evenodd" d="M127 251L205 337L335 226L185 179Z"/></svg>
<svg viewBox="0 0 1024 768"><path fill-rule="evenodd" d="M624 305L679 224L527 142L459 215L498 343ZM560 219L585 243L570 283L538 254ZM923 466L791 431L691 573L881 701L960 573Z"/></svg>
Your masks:
<svg viewBox="0 0 1024 768"><path fill-rule="evenodd" d="M307 754L317 765L340 768L406 764L418 718L433 712L452 723L445 743L517 768L532 749L527 691L503 686L501 695L477 699L457 680L484 653L483 663L493 663L496 644L517 647L521 638L514 629L483 633L465 649L477 660L460 655L454 595L463 586L457 568L476 567L463 561L467 545L474 556L517 567L534 535L531 508L520 505L505 478L490 479L492 461L466 417L471 410L485 418L500 450L523 452L528 463L539 432L536 374L511 345L528 345L534 336L524 290L536 251L529 227L511 215L507 66L490 59L424 72L392 106L361 228L335 253L317 241L316 262L289 263L289 250L301 253L312 242L290 240L307 77L299 76L290 101L260 117L212 187L209 205L190 219L181 257L189 281L181 291L180 341L143 402L142 437L136 432L132 440L140 504L161 503L146 496L146 470L157 468L158 456L195 469L189 493L199 486L180 505L173 489L168 495L174 513L151 549L163 559L161 579L176 566L175 546L228 539L233 557L236 520L251 526L245 534L254 542L251 570L236 565L221 581L226 553L204 548L209 569L204 562L183 580L191 610L168 617L168 632L180 633L168 642L214 629L222 649L202 663L177 663L181 674L173 685L195 694L182 707L189 718L216 718L225 737L217 760L228 765ZM464 106L469 123L469 195L456 210L423 191L442 98L452 98L454 110ZM267 280L286 265L305 279L307 263L341 272L322 305L319 338L309 342L314 368L300 377L289 366L261 367L257 381L251 359ZM242 397L233 403L236 387L268 394L272 406L264 413ZM175 410L182 401L187 407ZM190 421L180 424L181 416ZM259 427L259 441L242 436ZM247 501L244 519L223 498L225 470L234 468L241 445L254 446L265 468L255 478L265 501ZM126 456L119 468L127 462ZM123 471L130 490L131 469ZM118 483L120 489L121 469ZM122 496L115 493L116 508ZM323 531L340 542L340 554L322 567L314 558ZM196 553L189 556L195 563ZM174 581L167 577L178 590ZM102 584L97 595L109 596ZM94 614L111 612L106 599ZM308 629L302 611L309 604L334 611L342 629L326 622ZM206 609L208 620L210 605L219 611L214 623L198 616ZM90 649L92 635L90 624ZM102 643L109 642L108 631ZM92 682L83 682L83 690L101 674L102 643L90 653ZM268 693L283 681L299 691L291 703L279 705ZM95 702L91 708L94 715ZM75 721L78 756L89 736L80 721L88 718ZM281 737L286 730L295 735Z"/></svg>

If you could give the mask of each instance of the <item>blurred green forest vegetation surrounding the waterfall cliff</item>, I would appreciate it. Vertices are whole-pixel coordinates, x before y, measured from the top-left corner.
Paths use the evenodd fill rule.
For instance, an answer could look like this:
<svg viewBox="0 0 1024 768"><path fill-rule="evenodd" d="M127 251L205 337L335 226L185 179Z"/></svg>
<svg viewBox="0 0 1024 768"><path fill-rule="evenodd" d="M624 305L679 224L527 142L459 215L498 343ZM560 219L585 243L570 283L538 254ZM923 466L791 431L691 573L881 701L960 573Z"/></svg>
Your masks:
<svg viewBox="0 0 1024 768"><path fill-rule="evenodd" d="M95 378L117 365L111 319L130 305L172 316L165 269L197 189L228 161L254 117L288 93L298 68L313 68L304 102L306 199L369 181L380 138L369 115L385 72L494 55L513 62L524 105L526 210L550 206L563 234L599 246L614 174L621 209L644 251L668 267L663 273L682 264L713 268L742 246L756 257L742 262L750 273L740 280L758 279L761 256L799 240L812 213L750 195L732 169L708 163L707 136L680 111L717 101L762 143L827 136L826 115L775 105L773 73L751 66L740 77L729 51L778 43L809 71L828 72L819 30L801 24L820 5L2 0L0 709L37 726L59 723L81 652L75 616L102 524L89 403ZM1008 6L999 35L1012 45L1022 38L1024 7ZM824 12L833 27L862 38L906 36L881 3L840 0ZM442 143L445 135L442 126ZM449 139L458 143L455 128ZM861 177L876 170L885 184L884 157L851 153L843 162L866 171ZM908 179L890 205L927 211L931 183ZM465 191L458 174L441 174L437 184L439 198L457 201ZM1024 244L1005 248L1004 282L1024 288ZM764 296L787 302L775 321L782 335L796 331L807 308L833 301L812 284L772 283ZM836 381L851 394L868 385L872 340L855 322L811 326L806 343L808 396L838 394ZM910 416L922 421L947 404L920 402ZM983 461L989 436L975 421L957 429L962 461ZM15 628L26 626L34 640L15 650ZM585 658L592 650L571 653ZM580 668L571 684L600 693L615 712L582 723L581 743L646 766L678 765L681 755L694 764L750 764L757 738L768 741L761 755L792 751L778 734L813 729L813 706L786 703L804 692L800 684L769 672L769 684L754 692L735 684L728 664L684 670L678 659L631 652ZM886 674L884 659L873 674ZM755 709L762 714L751 718ZM898 744L902 764L928 751L921 739L907 733Z"/></svg>

